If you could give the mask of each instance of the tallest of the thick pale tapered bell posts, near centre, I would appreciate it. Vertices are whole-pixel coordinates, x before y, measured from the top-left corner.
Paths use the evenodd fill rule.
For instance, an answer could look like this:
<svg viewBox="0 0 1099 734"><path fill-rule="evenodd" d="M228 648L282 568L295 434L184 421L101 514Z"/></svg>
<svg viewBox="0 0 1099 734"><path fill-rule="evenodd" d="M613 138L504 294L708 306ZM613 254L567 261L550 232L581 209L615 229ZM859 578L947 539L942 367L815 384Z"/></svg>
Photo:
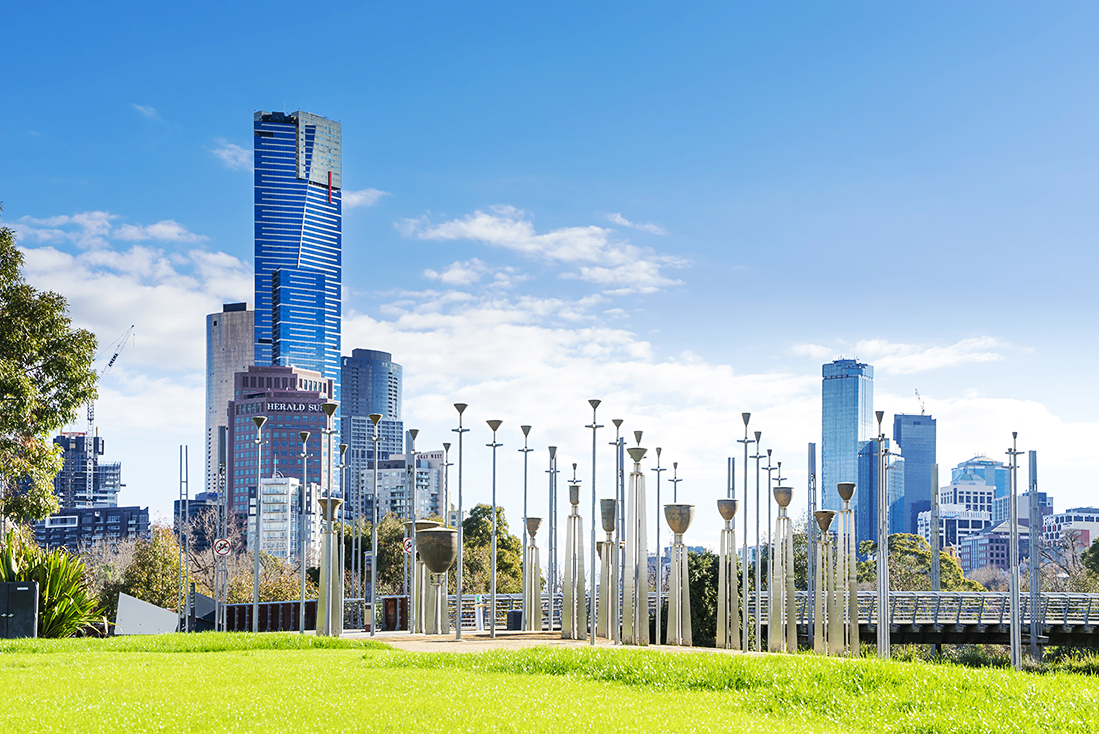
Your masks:
<svg viewBox="0 0 1099 734"><path fill-rule="evenodd" d="M641 431L633 432L641 443ZM646 448L628 448L633 459L625 513L625 577L622 579L622 644L648 644L648 537L645 507L645 475L641 459Z"/></svg>

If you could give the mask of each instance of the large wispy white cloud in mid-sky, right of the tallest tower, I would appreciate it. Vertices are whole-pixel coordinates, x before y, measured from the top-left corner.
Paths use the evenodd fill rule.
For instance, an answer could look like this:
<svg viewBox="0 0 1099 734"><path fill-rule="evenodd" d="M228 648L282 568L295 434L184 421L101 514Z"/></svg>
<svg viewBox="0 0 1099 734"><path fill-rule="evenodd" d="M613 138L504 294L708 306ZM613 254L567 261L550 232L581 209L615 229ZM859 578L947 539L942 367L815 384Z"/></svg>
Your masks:
<svg viewBox="0 0 1099 734"><path fill-rule="evenodd" d="M660 268L688 265L682 258L611 240L612 231L604 227L569 226L537 234L525 212L514 207L478 210L442 224L432 224L426 218L403 220L398 227L406 236L421 240L473 240L533 259L578 266L562 277L602 286L610 293L651 293L681 285L681 280L664 276Z"/></svg>

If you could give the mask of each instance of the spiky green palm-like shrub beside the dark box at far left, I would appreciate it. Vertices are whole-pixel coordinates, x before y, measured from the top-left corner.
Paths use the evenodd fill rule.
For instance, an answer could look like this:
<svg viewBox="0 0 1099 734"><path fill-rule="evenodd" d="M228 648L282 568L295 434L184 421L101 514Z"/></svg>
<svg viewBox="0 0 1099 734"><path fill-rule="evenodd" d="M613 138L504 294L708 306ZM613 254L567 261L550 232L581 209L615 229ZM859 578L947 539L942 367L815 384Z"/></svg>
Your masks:
<svg viewBox="0 0 1099 734"><path fill-rule="evenodd" d="M84 560L60 548L46 553L23 533L8 532L0 550L0 581L38 582L40 637L71 637L100 619Z"/></svg>

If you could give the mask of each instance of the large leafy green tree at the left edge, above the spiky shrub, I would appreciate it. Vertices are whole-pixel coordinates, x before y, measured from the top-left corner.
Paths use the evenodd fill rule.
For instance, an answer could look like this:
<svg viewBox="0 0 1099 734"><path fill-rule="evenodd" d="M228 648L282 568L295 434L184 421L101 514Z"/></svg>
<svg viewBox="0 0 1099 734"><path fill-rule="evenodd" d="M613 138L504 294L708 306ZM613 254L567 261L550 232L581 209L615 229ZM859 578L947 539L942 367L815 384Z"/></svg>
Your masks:
<svg viewBox="0 0 1099 734"><path fill-rule="evenodd" d="M0 516L57 511L52 435L96 397L96 337L73 329L65 299L27 285L15 233L0 227Z"/></svg>

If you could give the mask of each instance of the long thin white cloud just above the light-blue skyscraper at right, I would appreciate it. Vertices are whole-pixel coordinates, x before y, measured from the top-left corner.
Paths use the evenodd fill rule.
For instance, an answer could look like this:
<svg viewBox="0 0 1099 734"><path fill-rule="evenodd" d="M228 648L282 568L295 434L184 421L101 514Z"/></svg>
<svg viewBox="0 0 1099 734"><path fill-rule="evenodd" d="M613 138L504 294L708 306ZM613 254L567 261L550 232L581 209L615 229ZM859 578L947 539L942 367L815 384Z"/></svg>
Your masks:
<svg viewBox="0 0 1099 734"><path fill-rule="evenodd" d="M788 351L796 356L811 357L818 362L842 356L857 357L874 365L874 369L881 374L910 375L963 364L1000 362L1003 355L997 349L1003 346L995 336L977 336L947 345L863 340L837 348L820 344L795 344Z"/></svg>

